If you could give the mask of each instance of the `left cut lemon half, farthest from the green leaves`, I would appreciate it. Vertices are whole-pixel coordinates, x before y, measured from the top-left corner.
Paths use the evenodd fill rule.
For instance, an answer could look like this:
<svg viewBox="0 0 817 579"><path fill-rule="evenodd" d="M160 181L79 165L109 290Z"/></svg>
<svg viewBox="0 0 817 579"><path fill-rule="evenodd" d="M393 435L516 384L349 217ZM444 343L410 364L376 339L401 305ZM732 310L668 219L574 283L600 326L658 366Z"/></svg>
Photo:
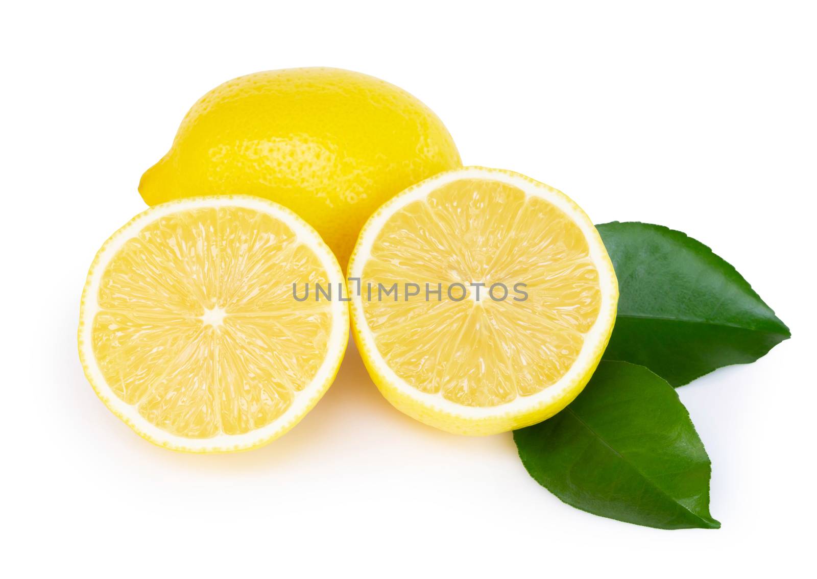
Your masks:
<svg viewBox="0 0 817 579"><path fill-rule="evenodd" d="M314 289L295 299L306 283L337 292L341 269L315 229L276 203L152 207L109 238L88 273L78 332L88 381L163 447L267 443L318 402L346 350L346 303L316 300Z"/></svg>

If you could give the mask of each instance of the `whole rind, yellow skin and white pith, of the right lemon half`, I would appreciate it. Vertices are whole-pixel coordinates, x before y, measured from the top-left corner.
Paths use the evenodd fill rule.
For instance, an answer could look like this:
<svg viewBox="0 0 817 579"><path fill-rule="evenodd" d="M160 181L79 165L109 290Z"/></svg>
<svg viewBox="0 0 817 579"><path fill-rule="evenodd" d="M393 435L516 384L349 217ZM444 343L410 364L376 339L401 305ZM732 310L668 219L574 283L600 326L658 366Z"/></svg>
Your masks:
<svg viewBox="0 0 817 579"><path fill-rule="evenodd" d="M556 384L531 394L520 396L497 407L469 407L444 399L440 394L428 394L408 385L389 367L377 350L372 332L365 322L363 301L349 283L351 323L355 343L377 388L395 408L427 425L454 434L498 434L536 424L559 412L581 392L600 362L601 355L613 332L618 304L618 281L604 243L585 212L558 189L513 171L486 167L462 167L438 173L417 185L405 189L384 203L361 229L347 268L349 278L361 278L374 239L391 215L408 203L426 198L427 194L454 180L499 180L553 203L565 212L582 230L590 247L590 256L599 273L601 305L591 329L585 333L584 345L573 366ZM365 283L365 280L364 280Z"/></svg>

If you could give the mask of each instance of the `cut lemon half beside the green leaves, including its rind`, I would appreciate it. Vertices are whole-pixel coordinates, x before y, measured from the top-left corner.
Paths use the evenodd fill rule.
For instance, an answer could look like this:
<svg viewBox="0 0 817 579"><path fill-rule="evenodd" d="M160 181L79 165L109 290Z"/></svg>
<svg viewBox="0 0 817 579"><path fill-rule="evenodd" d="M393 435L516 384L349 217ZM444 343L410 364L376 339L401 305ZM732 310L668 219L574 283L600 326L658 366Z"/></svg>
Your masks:
<svg viewBox="0 0 817 579"><path fill-rule="evenodd" d="M583 389L618 283L565 194L481 167L441 173L373 214L349 263L352 328L382 394L419 421L495 434Z"/></svg>

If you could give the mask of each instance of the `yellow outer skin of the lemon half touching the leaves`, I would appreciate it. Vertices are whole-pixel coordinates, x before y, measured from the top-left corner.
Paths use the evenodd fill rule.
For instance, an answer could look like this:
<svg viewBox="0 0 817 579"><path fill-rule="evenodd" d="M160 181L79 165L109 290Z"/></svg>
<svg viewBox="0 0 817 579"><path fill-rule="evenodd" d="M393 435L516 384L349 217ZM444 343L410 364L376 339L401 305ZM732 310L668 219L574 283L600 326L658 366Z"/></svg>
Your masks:
<svg viewBox="0 0 817 579"><path fill-rule="evenodd" d="M466 171L471 168L486 171L489 174L494 173L512 175L527 180L534 185L543 185L542 183L539 183L528 176L503 169L490 169L487 167L462 167L461 170ZM458 171L460 170L454 169L450 172ZM437 177L440 176L441 175L438 175ZM420 182L408 187L408 189L405 189L400 194L395 195L394 198L391 198L390 201L384 203L382 207L377 209L377 211L369 217L367 222L360 230L358 241L355 243L355 248L350 257L348 268L350 272L355 269L353 266L355 265L356 261L365 259L363 256L364 250L361 247L362 242L368 227L372 225L376 217L383 212L387 212L389 207L393 203L396 203L397 198L411 194L414 189L418 189L422 187L422 185L424 185L424 183ZM552 189L547 185L544 186L547 187L547 189L553 190L562 198L565 198L570 205L574 206L583 214L581 208L578 207L578 205L574 203L572 199L568 198L565 194L556 189ZM604 243L601 241L601 236L595 228L592 229L593 236L595 238L594 242L600 244L600 247L604 247ZM609 296L610 303L608 305L609 310L607 313L609 314L610 322L608 327L605 328L603 340L596 345L594 350L592 350L592 354L590 355L591 363L587 365L586 370L582 372L582 374L576 376L570 384L566 385L565 390L561 393L558 399L554 399L549 403L542 403L534 408L529 408L525 412L499 412L498 414L484 417L465 416L464 414L449 412L448 410L440 408L439 406L424 403L419 399L415 399L412 396L405 394L404 391L400 390L400 388L398 388L391 381L391 379L381 371L381 368L376 362L376 360L380 358L380 354L374 351L375 349L373 347L368 346L363 338L363 331L361 328L365 327L366 324L364 314L354 305L351 305L350 319L352 336L355 340L355 345L357 345L360 357L363 359L364 366L366 367L369 376L371 376L372 381L375 383L375 385L377 385L377 390L380 390L383 397L388 400L389 403L391 403L391 405L397 410L411 416L423 424L433 426L451 434L464 434L468 436L500 434L502 432L508 432L510 430L517 430L520 428L525 428L525 426L538 424L539 422L547 420L547 418L550 418L551 416L554 416L558 412L564 410L565 407L567 407L569 403L573 402L578 394L584 390L587 382L590 381L593 373L596 372L596 367L598 367L601 361L601 356L604 354L607 344L609 343L610 336L613 333L613 327L615 325L615 318L618 310L618 280L615 278L613 264L609 261L609 256L607 256L606 250L604 255L608 265L607 269L612 276L611 281L613 282L614 291L612 292L612 295ZM349 296L355 295L356 283L357 282L355 280L347 280L347 292Z"/></svg>

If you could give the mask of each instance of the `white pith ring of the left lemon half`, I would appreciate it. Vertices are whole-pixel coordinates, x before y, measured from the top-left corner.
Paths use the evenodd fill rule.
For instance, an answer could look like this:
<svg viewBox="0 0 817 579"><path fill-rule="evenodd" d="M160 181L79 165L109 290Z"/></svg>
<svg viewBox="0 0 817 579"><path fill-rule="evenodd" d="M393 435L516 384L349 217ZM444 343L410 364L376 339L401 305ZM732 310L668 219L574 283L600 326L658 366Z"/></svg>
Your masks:
<svg viewBox="0 0 817 579"><path fill-rule="evenodd" d="M248 195L186 198L170 203L163 203L162 205L151 207L147 211L134 217L127 225L123 226L122 229L119 229L111 236L96 254L96 258L91 266L91 271L88 273L85 288L83 289L78 332L79 355L83 367L86 369L88 381L91 382L94 390L96 390L96 394L112 412L145 439L149 439L151 442L159 445L167 446L168 448L189 452L243 450L256 447L289 430L292 425L300 420L301 416L306 414L306 412L318 402L328 389L337 372L337 368L340 366L343 354L346 350L346 342L348 341L349 314L346 302L331 302L332 328L329 332L327 355L312 381L310 381L303 390L297 392L295 399L292 401L292 405L283 412L281 416L276 418L275 421L257 430L243 434L218 434L208 439L190 439L170 434L158 428L149 421L146 421L136 406L125 403L114 394L107 381L105 381L105 377L102 376L102 372L100 372L100 368L96 363L96 356L92 351L92 322L94 316L100 311L100 306L97 303L100 279L111 258L116 255L116 252L118 252L128 239L136 237L146 225L149 225L163 216L200 207L244 207L274 216L292 229L299 243L310 247L310 249L315 252L331 284L343 283L343 274L340 266L337 264L335 256L320 238L319 234L295 213L277 203Z"/></svg>

